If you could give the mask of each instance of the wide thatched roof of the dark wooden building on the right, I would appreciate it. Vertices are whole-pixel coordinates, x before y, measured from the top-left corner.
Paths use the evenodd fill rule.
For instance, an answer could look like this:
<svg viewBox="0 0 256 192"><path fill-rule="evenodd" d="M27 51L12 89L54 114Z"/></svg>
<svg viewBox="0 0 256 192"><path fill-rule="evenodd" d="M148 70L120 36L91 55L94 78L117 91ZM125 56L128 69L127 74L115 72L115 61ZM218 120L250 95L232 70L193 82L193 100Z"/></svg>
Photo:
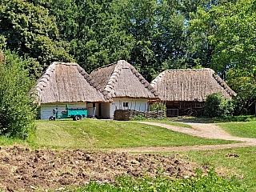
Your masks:
<svg viewBox="0 0 256 192"><path fill-rule="evenodd" d="M219 91L226 98L235 96L233 90L214 74L214 70L165 70L151 83L162 101L206 101L208 94Z"/></svg>

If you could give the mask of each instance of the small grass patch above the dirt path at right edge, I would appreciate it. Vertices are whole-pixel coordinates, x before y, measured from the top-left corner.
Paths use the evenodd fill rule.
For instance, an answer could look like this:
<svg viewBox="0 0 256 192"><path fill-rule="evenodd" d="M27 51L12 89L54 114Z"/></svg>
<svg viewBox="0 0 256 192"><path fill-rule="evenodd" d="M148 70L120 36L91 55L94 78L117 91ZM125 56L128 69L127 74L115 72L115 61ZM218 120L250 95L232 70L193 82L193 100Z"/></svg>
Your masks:
<svg viewBox="0 0 256 192"><path fill-rule="evenodd" d="M256 122L228 122L218 126L237 137L256 138Z"/></svg>

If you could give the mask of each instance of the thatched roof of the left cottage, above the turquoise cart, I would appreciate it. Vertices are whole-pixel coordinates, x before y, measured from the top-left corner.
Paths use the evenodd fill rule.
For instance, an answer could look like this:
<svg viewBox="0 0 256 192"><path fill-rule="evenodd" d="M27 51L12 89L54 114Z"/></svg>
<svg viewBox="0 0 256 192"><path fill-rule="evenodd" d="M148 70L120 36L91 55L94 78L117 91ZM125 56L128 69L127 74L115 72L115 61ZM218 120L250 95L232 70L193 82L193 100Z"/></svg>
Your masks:
<svg viewBox="0 0 256 192"><path fill-rule="evenodd" d="M53 102L105 102L102 92L77 63L53 62L42 74L32 93L38 104Z"/></svg>

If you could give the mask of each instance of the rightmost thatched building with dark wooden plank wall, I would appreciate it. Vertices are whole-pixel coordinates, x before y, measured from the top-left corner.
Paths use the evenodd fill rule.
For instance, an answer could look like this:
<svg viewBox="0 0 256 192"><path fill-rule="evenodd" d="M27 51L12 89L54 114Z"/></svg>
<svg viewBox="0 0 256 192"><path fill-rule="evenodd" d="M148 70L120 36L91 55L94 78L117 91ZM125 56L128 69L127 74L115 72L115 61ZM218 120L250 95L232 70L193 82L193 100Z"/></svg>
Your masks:
<svg viewBox="0 0 256 192"><path fill-rule="evenodd" d="M151 83L166 103L167 117L179 115L202 116L209 94L222 92L226 98L236 93L209 68L196 70L165 70Z"/></svg>

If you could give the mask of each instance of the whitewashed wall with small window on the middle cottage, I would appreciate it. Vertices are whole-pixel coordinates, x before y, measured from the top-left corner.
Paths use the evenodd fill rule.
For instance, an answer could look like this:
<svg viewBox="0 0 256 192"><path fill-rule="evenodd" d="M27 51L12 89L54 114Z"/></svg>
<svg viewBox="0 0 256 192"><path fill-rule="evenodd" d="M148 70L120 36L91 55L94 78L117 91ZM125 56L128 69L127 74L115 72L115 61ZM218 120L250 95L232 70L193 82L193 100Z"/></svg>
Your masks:
<svg viewBox="0 0 256 192"><path fill-rule="evenodd" d="M123 106L123 102L128 102L128 107ZM114 118L114 110L138 110L148 111L147 99L131 99L131 98L113 98L110 105L110 118Z"/></svg>

